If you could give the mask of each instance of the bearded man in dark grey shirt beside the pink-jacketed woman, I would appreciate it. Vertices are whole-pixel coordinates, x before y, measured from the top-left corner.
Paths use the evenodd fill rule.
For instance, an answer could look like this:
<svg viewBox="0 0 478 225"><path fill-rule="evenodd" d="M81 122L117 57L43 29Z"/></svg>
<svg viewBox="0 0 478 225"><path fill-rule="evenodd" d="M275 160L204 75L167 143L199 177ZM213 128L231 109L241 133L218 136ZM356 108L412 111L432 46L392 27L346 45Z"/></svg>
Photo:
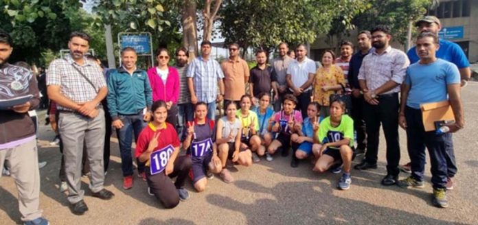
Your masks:
<svg viewBox="0 0 478 225"><path fill-rule="evenodd" d="M189 58L189 51L185 47L179 47L176 50L176 65L174 66L179 73L178 134L183 133L186 121L192 121L194 115L191 95L187 90L187 58Z"/></svg>

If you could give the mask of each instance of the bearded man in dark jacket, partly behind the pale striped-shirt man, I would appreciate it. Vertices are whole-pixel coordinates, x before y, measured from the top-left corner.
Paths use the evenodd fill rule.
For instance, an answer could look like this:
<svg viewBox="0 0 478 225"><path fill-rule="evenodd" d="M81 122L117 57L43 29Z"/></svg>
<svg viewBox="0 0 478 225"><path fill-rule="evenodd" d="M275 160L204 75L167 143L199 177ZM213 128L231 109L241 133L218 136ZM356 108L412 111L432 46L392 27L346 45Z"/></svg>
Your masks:
<svg viewBox="0 0 478 225"><path fill-rule="evenodd" d="M357 133L357 147L355 154L364 154L367 147L367 133L365 121L363 121L363 94L360 84L358 84L358 71L362 66L362 61L372 49L372 34L368 30L358 32L357 43L358 51L352 56L349 62L348 84L352 88L352 110L350 115L354 119L354 130Z"/></svg>

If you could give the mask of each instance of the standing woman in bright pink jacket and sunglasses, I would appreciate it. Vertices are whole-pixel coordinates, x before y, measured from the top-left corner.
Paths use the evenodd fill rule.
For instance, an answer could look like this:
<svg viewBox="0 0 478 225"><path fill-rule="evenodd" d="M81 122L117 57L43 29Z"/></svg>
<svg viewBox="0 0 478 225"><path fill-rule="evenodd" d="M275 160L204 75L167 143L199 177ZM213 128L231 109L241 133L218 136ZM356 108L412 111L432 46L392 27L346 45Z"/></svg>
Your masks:
<svg viewBox="0 0 478 225"><path fill-rule="evenodd" d="M156 51L158 65L148 69L148 78L152 88L152 101L163 100L166 102L166 108L168 109L166 121L176 128L178 121L179 73L174 67L168 66L169 59L168 49L158 49Z"/></svg>

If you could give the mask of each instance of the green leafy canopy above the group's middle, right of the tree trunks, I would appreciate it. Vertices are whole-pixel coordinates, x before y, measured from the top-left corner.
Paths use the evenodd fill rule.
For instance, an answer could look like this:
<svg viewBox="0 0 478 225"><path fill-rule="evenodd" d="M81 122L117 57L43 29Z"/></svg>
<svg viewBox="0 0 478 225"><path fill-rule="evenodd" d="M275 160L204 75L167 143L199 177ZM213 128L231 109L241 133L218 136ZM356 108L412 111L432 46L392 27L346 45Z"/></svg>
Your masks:
<svg viewBox="0 0 478 225"><path fill-rule="evenodd" d="M226 43L242 47L312 43L328 33L334 19L340 17L350 27L353 16L366 7L365 0L226 0L220 31Z"/></svg>

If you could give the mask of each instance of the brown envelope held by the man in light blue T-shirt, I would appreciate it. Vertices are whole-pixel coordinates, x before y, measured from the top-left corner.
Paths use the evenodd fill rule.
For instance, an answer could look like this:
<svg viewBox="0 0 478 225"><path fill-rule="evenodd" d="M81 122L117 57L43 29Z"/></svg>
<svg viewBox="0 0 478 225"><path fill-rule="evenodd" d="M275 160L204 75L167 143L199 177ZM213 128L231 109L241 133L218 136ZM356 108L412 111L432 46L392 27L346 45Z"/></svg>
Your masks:
<svg viewBox="0 0 478 225"><path fill-rule="evenodd" d="M436 121L455 121L455 115L448 100L420 104L425 131L436 130Z"/></svg>

